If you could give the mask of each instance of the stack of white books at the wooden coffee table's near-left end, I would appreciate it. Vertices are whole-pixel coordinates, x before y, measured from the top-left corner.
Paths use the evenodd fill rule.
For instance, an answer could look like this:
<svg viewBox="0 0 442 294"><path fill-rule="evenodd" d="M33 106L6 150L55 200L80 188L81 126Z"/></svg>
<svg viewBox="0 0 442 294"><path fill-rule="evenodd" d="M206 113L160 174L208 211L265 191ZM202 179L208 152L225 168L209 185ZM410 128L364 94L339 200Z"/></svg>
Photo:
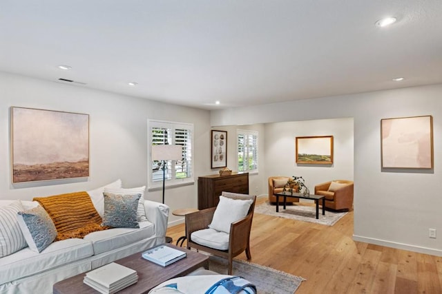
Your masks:
<svg viewBox="0 0 442 294"><path fill-rule="evenodd" d="M86 273L83 280L84 284L94 288L99 293L106 294L120 291L137 281L137 271L115 262Z"/></svg>

